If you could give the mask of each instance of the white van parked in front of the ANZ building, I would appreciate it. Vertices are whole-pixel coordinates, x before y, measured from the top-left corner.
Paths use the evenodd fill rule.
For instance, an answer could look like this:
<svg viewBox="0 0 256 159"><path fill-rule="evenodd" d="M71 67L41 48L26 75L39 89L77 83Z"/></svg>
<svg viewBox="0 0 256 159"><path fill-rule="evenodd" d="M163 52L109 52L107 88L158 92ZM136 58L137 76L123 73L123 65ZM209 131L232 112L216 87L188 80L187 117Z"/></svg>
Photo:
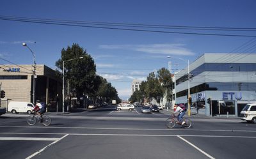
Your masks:
<svg viewBox="0 0 256 159"><path fill-rule="evenodd" d="M33 105L33 103L12 101L8 104L8 112L12 112L13 114L16 114L17 112L26 112L31 114L34 107L35 105Z"/></svg>

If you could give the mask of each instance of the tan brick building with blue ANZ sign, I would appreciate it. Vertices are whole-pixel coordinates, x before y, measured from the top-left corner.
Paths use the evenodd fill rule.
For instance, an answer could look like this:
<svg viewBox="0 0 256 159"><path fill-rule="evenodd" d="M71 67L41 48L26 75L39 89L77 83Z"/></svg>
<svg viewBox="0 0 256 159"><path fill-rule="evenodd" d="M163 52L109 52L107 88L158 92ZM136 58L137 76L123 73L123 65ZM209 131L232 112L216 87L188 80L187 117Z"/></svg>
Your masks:
<svg viewBox="0 0 256 159"><path fill-rule="evenodd" d="M10 101L33 103L33 66L6 64L0 69L1 89L5 91L1 106L7 107ZM51 103L57 95L61 97L61 84L56 71L44 64L36 65L35 100Z"/></svg>

